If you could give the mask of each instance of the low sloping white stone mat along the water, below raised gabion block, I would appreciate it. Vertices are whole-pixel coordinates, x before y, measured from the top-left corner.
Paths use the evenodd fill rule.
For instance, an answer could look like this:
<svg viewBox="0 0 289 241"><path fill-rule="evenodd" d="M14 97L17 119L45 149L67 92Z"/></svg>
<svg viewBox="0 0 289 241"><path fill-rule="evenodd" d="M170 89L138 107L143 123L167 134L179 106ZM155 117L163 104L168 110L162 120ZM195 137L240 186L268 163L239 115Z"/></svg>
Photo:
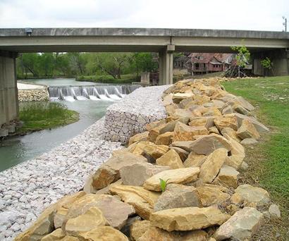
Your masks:
<svg viewBox="0 0 289 241"><path fill-rule="evenodd" d="M12 240L44 208L80 190L87 176L121 147L101 139L103 126L99 120L51 152L0 173L0 240Z"/></svg>

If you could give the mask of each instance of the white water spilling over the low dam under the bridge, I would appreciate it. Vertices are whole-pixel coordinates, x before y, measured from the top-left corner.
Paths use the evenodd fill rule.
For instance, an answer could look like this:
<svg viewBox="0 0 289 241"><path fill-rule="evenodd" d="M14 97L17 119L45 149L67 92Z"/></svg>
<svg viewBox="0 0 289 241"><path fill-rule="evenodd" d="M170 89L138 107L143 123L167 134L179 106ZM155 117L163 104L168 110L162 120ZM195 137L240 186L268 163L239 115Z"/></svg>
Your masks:
<svg viewBox="0 0 289 241"><path fill-rule="evenodd" d="M48 92L51 100L105 100L121 99L130 94L140 85L104 85L104 86L49 86Z"/></svg>

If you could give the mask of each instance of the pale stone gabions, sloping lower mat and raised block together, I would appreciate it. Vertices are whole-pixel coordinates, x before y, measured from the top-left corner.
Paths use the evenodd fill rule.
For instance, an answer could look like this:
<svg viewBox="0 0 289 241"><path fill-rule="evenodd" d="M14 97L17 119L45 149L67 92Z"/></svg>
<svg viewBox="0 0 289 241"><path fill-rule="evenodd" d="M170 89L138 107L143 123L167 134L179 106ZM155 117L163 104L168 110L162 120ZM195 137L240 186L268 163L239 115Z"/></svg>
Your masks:
<svg viewBox="0 0 289 241"><path fill-rule="evenodd" d="M114 149L121 148L121 142L102 138L107 128L111 131L120 128L114 136L118 135L118 140L121 140L135 131L142 131L146 123L164 118L166 114L159 99L167 87L136 89L109 107L105 123L102 118L51 152L1 172L0 240L12 240L28 228L47 206L80 190L87 176L106 161ZM118 113L124 116L120 118ZM112 117L113 122L110 122ZM122 124L116 126L117 123ZM128 128L133 131L128 131Z"/></svg>

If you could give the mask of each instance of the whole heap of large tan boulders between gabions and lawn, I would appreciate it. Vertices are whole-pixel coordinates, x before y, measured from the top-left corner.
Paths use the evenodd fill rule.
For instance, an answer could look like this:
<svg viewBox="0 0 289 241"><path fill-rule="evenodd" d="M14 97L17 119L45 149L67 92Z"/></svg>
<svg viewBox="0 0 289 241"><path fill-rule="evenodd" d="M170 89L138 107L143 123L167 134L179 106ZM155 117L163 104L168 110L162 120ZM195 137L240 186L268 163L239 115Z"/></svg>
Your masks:
<svg viewBox="0 0 289 241"><path fill-rule="evenodd" d="M238 185L242 143L266 126L254 106L216 80L182 80L164 92L168 117L149 123L16 240L248 240L271 203ZM266 213L280 216L278 206Z"/></svg>

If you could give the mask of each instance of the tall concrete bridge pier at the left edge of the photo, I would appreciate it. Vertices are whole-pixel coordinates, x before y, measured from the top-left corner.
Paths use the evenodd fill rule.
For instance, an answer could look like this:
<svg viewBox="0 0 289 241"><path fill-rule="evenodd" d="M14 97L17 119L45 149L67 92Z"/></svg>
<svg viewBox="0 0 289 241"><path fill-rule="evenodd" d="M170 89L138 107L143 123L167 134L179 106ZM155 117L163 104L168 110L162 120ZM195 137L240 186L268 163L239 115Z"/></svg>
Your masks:
<svg viewBox="0 0 289 241"><path fill-rule="evenodd" d="M16 53L0 51L0 136L13 130L9 123L18 118L16 57Z"/></svg>

